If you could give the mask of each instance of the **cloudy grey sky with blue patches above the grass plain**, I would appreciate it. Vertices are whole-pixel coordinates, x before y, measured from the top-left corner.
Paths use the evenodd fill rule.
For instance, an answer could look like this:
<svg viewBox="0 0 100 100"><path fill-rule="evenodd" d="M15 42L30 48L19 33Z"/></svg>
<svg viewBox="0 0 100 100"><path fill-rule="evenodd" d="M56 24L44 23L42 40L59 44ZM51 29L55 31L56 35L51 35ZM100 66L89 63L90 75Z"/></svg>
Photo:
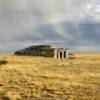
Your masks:
<svg viewBox="0 0 100 100"><path fill-rule="evenodd" d="M0 0L0 51L50 44L100 50L100 0Z"/></svg>

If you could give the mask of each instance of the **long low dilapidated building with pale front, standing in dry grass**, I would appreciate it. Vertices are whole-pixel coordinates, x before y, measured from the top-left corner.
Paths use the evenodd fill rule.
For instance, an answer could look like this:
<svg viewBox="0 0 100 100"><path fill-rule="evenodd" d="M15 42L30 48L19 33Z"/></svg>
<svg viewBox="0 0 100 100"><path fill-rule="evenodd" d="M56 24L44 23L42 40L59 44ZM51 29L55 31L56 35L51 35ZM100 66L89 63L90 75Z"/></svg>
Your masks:
<svg viewBox="0 0 100 100"><path fill-rule="evenodd" d="M43 56L57 59L68 59L68 49L51 48L50 45L37 45L15 52L15 55Z"/></svg>

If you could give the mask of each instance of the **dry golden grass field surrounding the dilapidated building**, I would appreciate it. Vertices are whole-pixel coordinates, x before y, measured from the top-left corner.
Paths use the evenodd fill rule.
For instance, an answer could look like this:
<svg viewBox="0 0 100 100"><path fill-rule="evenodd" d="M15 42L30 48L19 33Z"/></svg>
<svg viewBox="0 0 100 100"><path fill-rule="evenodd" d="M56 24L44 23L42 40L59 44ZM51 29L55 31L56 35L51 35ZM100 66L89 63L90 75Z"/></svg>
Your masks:
<svg viewBox="0 0 100 100"><path fill-rule="evenodd" d="M0 54L0 100L100 100L100 53L73 59Z"/></svg>

